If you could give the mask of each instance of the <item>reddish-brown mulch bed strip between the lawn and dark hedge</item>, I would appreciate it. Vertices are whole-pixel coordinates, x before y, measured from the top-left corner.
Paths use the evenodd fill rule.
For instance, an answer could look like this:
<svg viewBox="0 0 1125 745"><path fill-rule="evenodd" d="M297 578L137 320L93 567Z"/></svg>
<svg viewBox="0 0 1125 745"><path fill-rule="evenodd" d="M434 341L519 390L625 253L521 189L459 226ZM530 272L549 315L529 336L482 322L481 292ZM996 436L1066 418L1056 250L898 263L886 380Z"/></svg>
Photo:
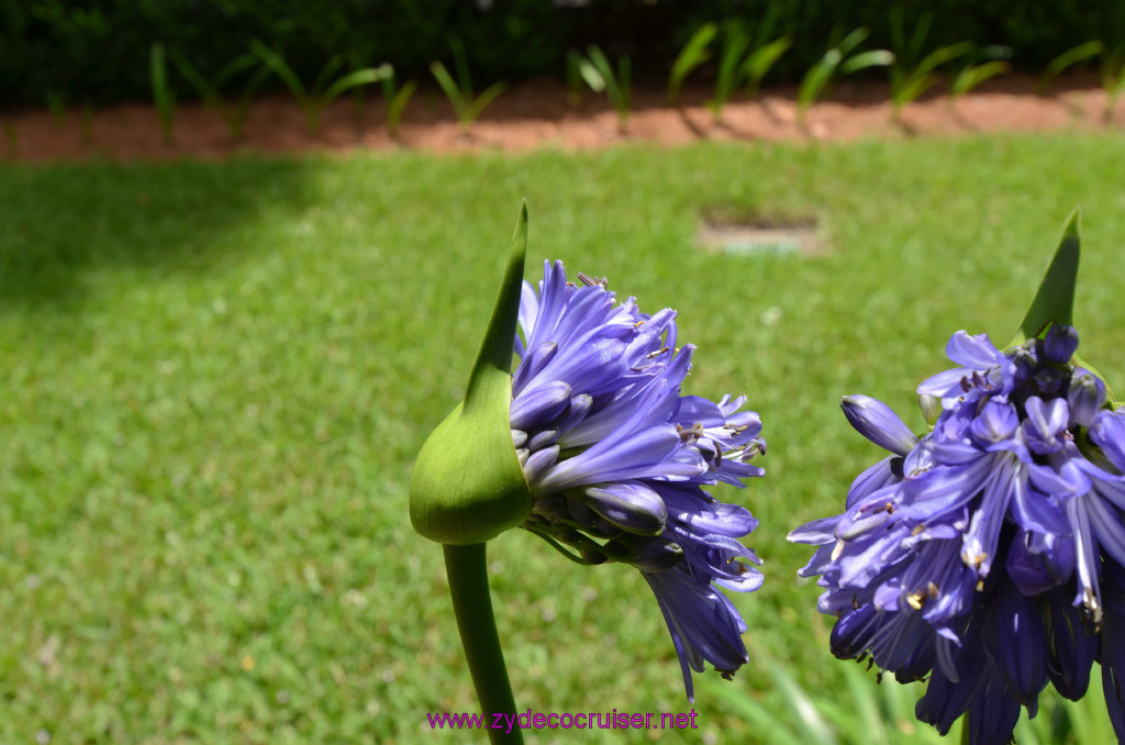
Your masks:
<svg viewBox="0 0 1125 745"><path fill-rule="evenodd" d="M699 140L853 140L1120 126L1117 119L1106 119L1106 96L1092 75L1056 81L1046 97L1035 95L1033 79L1008 75L956 101L944 95L915 101L900 123L891 119L885 86L840 84L831 99L811 108L804 126L798 124L793 89L767 90L757 101L736 100L727 105L719 122L705 107L709 95L704 88L687 88L682 105L668 107L663 90L637 90L628 129L622 133L616 113L604 97L585 91L582 106L572 108L565 87L556 81L511 88L468 129L457 123L440 95L420 92L407 105L397 137L388 134L381 99L374 92L363 109L351 100L334 102L324 113L316 135L307 133L304 114L291 98L269 97L252 105L240 142L232 142L217 113L199 105L177 107L171 143L163 142L152 105L117 106L88 116L72 110L61 120L47 111L25 110L0 117L4 133L0 156L45 162L223 159L237 153L404 147L428 152L573 151L621 142L678 145Z"/></svg>

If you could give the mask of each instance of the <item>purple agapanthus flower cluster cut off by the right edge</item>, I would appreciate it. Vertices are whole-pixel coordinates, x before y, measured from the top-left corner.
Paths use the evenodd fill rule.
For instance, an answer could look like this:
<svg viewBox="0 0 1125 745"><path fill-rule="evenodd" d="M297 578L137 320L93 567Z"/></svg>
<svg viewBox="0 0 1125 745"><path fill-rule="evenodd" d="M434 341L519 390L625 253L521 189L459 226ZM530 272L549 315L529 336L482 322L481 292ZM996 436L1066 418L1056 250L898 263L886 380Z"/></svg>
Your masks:
<svg viewBox="0 0 1125 745"><path fill-rule="evenodd" d="M944 734L968 713L971 743L1008 742L1047 683L1081 698L1095 661L1125 736L1125 412L1077 348L1064 325L1004 352L957 332L961 367L918 388L936 415L920 438L846 397L891 455L853 482L843 514L790 536L819 546L801 575L820 575L832 653L928 680L918 718Z"/></svg>

